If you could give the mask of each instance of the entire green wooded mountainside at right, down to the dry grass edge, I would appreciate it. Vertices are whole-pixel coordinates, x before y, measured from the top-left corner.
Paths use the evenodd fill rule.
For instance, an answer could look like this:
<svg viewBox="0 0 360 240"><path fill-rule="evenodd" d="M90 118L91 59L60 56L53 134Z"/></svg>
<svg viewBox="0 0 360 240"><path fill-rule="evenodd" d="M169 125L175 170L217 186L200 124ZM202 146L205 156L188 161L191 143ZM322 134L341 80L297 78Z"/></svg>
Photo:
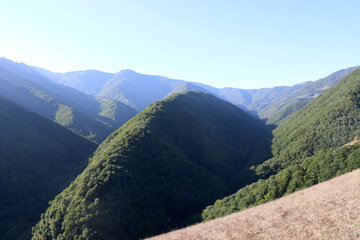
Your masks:
<svg viewBox="0 0 360 240"><path fill-rule="evenodd" d="M360 69L284 119L273 131L274 157L252 168L263 179L216 201L203 211L203 219L258 205L359 168L360 149L352 146L359 142L358 119Z"/></svg>

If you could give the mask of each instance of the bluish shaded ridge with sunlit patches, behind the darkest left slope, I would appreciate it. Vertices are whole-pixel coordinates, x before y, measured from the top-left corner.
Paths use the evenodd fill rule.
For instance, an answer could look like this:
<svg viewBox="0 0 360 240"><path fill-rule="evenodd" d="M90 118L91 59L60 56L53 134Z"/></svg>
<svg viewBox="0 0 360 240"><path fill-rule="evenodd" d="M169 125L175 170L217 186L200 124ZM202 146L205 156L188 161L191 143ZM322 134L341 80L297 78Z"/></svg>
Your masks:
<svg viewBox="0 0 360 240"><path fill-rule="evenodd" d="M0 59L0 97L44 115L96 143L137 113L119 101L90 96L53 83L32 67L3 58Z"/></svg>

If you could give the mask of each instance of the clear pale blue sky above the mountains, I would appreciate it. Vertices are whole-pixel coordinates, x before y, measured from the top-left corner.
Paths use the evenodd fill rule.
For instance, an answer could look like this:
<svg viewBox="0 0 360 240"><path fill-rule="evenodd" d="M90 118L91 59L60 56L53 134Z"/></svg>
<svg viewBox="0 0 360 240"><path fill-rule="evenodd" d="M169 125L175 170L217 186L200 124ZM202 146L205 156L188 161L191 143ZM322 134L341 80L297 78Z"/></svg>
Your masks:
<svg viewBox="0 0 360 240"><path fill-rule="evenodd" d="M60 72L292 85L360 65L359 9L346 0L5 0L0 56Z"/></svg>

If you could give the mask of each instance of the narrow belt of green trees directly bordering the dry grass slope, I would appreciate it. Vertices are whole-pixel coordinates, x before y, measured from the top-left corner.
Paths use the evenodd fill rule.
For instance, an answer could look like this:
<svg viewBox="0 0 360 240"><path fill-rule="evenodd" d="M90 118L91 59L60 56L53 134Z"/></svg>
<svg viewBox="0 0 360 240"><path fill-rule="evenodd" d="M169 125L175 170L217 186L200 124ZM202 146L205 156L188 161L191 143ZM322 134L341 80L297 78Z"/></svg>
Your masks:
<svg viewBox="0 0 360 240"><path fill-rule="evenodd" d="M288 167L266 180L250 184L233 195L217 200L202 213L208 221L241 211L294 191L310 187L360 168L360 146L321 150L301 165Z"/></svg>

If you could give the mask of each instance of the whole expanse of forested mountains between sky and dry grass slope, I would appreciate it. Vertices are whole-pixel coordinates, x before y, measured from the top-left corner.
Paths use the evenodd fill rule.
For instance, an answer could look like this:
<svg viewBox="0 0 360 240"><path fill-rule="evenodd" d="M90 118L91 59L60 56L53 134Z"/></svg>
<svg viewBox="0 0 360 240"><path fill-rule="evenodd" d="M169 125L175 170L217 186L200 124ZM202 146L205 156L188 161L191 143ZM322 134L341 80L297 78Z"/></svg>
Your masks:
<svg viewBox="0 0 360 240"><path fill-rule="evenodd" d="M357 169L355 69L246 90L0 58L0 239L139 239Z"/></svg>

